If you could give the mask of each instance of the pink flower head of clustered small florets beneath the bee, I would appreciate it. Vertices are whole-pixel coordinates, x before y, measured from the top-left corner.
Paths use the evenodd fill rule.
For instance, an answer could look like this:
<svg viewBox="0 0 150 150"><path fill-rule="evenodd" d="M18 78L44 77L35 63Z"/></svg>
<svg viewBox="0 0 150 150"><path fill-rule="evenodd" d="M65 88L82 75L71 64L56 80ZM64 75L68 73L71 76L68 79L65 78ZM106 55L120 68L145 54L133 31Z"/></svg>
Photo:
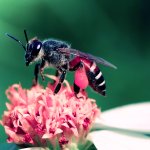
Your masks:
<svg viewBox="0 0 150 150"><path fill-rule="evenodd" d="M56 80L56 77L49 76ZM30 143L47 146L47 141L61 147L71 142L85 140L96 117L100 115L95 100L80 92L77 98L66 82L58 94L55 85L46 88L40 85L23 89L14 84L6 91L10 103L4 112L2 125L8 135L8 142Z"/></svg>

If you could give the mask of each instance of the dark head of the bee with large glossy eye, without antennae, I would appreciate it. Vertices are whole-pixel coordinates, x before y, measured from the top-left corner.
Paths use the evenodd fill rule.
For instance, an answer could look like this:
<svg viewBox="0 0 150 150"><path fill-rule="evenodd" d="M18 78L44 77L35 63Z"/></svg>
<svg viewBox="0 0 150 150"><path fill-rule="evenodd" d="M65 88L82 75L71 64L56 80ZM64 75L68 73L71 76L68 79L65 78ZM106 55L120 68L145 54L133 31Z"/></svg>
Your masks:
<svg viewBox="0 0 150 150"><path fill-rule="evenodd" d="M42 42L37 38L31 39L26 44L26 51L25 51L26 66L28 66L31 62L37 61L41 58L40 55L41 48Z"/></svg>

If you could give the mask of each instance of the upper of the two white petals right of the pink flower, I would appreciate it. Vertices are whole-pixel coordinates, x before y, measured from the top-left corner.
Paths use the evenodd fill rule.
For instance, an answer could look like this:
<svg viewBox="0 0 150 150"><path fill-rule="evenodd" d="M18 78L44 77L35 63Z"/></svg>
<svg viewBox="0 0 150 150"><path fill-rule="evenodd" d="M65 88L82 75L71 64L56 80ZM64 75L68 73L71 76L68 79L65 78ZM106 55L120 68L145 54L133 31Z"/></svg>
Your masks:
<svg viewBox="0 0 150 150"><path fill-rule="evenodd" d="M132 104L105 111L97 124L150 133L150 102Z"/></svg>

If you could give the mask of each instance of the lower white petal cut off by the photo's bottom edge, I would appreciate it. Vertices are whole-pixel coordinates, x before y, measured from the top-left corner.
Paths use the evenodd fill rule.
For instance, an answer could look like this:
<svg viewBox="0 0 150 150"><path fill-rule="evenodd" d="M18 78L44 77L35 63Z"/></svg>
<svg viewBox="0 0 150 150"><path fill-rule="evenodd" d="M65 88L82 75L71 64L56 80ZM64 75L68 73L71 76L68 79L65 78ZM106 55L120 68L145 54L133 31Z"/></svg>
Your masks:
<svg viewBox="0 0 150 150"><path fill-rule="evenodd" d="M128 136L112 131L95 131L88 135L98 150L150 150L150 138Z"/></svg>

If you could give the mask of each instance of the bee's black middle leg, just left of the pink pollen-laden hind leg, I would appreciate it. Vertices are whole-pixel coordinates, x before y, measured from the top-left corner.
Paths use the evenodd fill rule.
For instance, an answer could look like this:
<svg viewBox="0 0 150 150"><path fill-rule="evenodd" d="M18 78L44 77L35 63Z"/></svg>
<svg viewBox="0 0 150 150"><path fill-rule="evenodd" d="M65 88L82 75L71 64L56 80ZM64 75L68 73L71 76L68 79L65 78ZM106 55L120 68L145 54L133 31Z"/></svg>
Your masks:
<svg viewBox="0 0 150 150"><path fill-rule="evenodd" d="M59 70L58 70L59 71ZM60 76L59 76L59 83L56 85L54 94L57 94L61 88L61 84L64 82L65 76L66 76L66 70L60 70Z"/></svg>

